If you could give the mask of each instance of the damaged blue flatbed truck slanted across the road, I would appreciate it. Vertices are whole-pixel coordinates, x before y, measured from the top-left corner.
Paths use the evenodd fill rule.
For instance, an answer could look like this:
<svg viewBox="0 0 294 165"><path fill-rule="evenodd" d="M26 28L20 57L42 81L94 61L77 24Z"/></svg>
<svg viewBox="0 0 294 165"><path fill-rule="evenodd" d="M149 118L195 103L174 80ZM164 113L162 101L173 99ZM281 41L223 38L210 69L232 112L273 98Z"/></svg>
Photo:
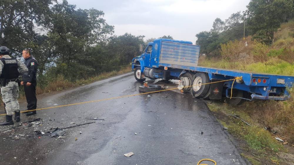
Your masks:
<svg viewBox="0 0 294 165"><path fill-rule="evenodd" d="M294 76L200 67L200 46L190 41L160 38L141 44L140 51L143 54L132 60L132 71L137 81L143 82L146 78L180 80L178 88L190 92L194 97L211 100L225 97L232 105L244 100L290 98L289 90L293 86ZM219 82L241 76L242 80L234 83L232 80Z"/></svg>

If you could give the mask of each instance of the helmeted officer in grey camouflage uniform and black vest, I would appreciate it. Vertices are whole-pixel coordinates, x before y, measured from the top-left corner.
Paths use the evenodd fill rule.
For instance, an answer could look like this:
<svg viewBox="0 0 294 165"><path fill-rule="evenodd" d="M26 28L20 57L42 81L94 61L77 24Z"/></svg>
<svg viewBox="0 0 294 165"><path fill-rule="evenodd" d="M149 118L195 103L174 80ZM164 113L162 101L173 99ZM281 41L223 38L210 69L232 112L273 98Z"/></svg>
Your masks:
<svg viewBox="0 0 294 165"><path fill-rule="evenodd" d="M9 49L5 46L0 47L0 80L1 80L1 95L6 108L6 122L1 122L0 125L13 125L14 121L20 121L18 77L19 73L25 74L28 72L26 65L16 58L9 56Z"/></svg>

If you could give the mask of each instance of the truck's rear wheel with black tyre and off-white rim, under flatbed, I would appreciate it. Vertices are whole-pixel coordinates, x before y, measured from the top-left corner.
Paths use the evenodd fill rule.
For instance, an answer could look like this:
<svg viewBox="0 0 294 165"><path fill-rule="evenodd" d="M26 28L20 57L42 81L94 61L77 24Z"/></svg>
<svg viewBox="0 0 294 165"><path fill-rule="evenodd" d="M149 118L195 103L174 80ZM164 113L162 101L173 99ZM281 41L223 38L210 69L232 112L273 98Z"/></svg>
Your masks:
<svg viewBox="0 0 294 165"><path fill-rule="evenodd" d="M210 83L210 82L211 81L209 80L209 77L206 73L197 72L193 76L193 82L192 82L193 87L191 87L191 90L190 90L191 95L196 98L205 97L210 88L210 84L206 84L206 83ZM205 84L205 85L201 85L201 84Z"/></svg>

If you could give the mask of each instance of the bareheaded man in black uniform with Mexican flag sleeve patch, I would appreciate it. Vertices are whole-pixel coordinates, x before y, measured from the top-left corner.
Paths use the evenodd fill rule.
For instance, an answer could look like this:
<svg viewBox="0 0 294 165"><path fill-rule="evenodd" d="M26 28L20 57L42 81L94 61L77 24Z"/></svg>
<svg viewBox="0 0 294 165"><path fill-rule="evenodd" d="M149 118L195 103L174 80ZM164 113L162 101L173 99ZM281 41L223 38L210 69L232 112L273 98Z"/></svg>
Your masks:
<svg viewBox="0 0 294 165"><path fill-rule="evenodd" d="M21 85L24 85L24 92L26 94L27 110L35 110L37 108L36 97L36 73L38 68L37 60L31 55L29 49L22 51L22 56L25 61L24 64L29 69L28 75L22 75ZM25 112L26 116L35 115L36 111Z"/></svg>

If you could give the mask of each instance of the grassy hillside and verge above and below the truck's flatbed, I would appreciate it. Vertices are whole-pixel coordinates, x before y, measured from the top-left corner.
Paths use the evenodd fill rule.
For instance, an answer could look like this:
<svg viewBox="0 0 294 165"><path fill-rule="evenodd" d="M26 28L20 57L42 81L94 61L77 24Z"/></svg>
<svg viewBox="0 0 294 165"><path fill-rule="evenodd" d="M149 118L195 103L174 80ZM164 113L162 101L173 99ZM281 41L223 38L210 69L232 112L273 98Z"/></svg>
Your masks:
<svg viewBox="0 0 294 165"><path fill-rule="evenodd" d="M217 51L218 56L201 56L199 65L293 76L294 21L282 23L270 44L247 36L245 40L222 43ZM290 164L294 162L294 89L289 90L292 97L286 101L244 102L237 107L213 102L208 107L228 132L240 140L241 155L252 164ZM250 126L230 115L240 117Z"/></svg>

